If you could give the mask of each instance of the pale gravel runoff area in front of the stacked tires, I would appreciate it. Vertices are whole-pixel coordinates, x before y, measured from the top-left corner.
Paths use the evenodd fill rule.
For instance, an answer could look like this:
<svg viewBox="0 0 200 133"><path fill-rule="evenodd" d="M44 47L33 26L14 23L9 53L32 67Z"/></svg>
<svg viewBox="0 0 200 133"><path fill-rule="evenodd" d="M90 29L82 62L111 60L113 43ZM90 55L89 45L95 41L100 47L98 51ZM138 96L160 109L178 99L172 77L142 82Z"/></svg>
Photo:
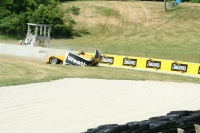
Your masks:
<svg viewBox="0 0 200 133"><path fill-rule="evenodd" d="M0 87L1 133L80 133L198 110L200 84L160 81L61 79Z"/></svg>

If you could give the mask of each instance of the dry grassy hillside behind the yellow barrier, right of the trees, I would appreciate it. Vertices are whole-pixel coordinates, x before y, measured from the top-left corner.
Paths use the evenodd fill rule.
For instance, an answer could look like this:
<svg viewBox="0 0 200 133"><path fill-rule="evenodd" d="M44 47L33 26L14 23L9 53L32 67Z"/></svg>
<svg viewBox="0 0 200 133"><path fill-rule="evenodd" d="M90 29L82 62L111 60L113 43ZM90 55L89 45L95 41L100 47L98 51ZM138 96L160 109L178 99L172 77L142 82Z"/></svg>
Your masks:
<svg viewBox="0 0 200 133"><path fill-rule="evenodd" d="M200 4L163 11L162 2L75 1L79 37L53 40L56 47L199 62ZM80 37L81 36L81 37ZM52 45L52 47L54 47ZM64 46L63 46L64 45ZM186 59L187 58L187 59ZM193 60L195 58L195 60Z"/></svg>

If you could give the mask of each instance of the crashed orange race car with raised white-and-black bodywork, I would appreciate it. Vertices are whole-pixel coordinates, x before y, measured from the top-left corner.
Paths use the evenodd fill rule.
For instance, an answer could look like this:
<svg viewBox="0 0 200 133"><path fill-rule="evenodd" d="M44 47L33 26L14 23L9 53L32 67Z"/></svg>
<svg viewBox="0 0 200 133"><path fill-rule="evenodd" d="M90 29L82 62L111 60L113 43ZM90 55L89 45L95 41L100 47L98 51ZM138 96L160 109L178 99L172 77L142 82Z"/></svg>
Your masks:
<svg viewBox="0 0 200 133"><path fill-rule="evenodd" d="M75 66L96 66L101 62L102 56L98 50L95 50L94 55L85 54L80 51L78 54L74 52L67 52L66 55L50 56L46 62L50 64L63 64Z"/></svg>

